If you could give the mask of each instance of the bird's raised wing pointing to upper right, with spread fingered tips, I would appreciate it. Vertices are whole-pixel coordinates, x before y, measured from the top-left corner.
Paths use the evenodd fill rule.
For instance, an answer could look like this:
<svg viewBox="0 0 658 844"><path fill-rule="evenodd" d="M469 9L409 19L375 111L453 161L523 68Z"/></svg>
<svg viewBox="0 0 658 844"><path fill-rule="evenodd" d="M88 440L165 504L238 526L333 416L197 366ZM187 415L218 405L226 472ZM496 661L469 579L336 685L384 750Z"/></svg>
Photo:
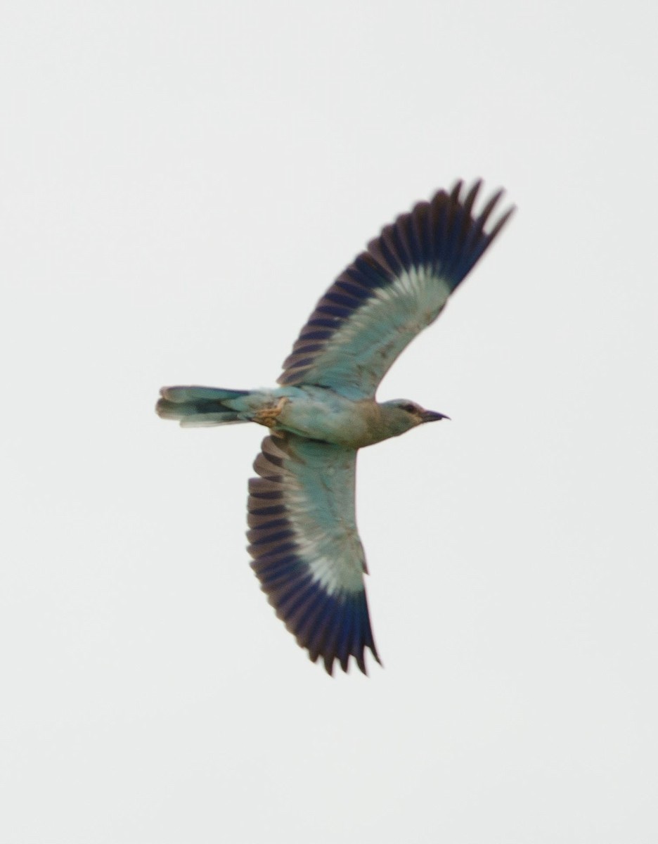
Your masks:
<svg viewBox="0 0 658 844"><path fill-rule="evenodd" d="M439 316L514 211L486 231L503 192L474 217L481 184L462 197L458 181L450 194L439 191L431 202L418 203L370 241L317 303L278 382L373 397L397 355Z"/></svg>

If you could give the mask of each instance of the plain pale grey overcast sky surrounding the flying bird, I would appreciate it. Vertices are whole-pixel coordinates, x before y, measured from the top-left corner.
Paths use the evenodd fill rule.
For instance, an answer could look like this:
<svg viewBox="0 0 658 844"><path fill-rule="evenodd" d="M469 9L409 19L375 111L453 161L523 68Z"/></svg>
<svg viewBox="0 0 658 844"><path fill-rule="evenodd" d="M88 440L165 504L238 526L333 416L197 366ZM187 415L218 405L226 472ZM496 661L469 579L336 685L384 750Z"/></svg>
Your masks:
<svg viewBox="0 0 658 844"><path fill-rule="evenodd" d="M3 3L0 841L658 837L653 3ZM330 679L245 552L332 279L456 177L518 212L361 452L384 668Z"/></svg>

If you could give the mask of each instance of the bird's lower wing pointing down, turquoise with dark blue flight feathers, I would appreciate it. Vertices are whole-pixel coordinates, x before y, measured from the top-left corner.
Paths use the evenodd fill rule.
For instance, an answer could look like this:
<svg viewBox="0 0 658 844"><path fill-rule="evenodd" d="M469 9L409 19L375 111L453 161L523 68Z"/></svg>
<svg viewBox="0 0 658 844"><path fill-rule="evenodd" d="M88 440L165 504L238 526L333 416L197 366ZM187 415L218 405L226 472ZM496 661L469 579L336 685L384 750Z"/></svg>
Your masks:
<svg viewBox="0 0 658 844"><path fill-rule="evenodd" d="M249 482L251 565L301 647L332 674L349 657L379 662L365 598L364 549L354 515L355 451L294 434L262 442Z"/></svg>

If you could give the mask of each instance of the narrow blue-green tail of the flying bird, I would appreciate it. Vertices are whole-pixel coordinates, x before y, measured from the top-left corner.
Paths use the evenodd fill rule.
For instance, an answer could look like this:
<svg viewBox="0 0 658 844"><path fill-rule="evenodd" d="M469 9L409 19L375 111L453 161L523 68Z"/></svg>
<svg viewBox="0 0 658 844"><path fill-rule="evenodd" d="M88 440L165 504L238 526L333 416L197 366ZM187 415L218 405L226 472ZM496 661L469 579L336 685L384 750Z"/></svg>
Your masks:
<svg viewBox="0 0 658 844"><path fill-rule="evenodd" d="M249 395L248 390L219 387L163 387L155 412L162 419L178 419L183 428L248 422L244 397Z"/></svg>

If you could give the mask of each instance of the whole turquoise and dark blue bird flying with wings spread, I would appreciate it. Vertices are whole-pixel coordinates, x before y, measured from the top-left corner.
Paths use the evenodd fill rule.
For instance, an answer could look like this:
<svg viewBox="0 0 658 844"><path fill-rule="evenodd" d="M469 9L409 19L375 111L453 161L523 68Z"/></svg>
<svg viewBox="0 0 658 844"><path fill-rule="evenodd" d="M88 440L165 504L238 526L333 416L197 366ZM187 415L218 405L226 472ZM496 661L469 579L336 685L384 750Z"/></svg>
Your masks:
<svg viewBox="0 0 658 844"><path fill-rule="evenodd" d="M387 225L317 303L275 389L164 387L156 411L183 427L270 429L249 482L251 566L280 619L332 674L365 649L377 662L354 491L359 448L445 419L407 399L375 401L402 349L429 326L510 218L503 191L479 213L481 181L439 191Z"/></svg>

